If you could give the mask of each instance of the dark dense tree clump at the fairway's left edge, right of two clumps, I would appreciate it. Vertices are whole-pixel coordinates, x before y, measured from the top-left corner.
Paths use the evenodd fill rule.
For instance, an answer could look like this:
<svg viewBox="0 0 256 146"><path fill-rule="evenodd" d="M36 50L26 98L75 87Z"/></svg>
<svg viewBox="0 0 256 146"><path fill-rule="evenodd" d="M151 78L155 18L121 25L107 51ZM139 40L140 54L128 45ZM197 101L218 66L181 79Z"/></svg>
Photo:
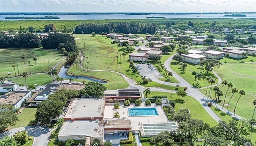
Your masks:
<svg viewBox="0 0 256 146"><path fill-rule="evenodd" d="M68 52L76 51L76 41L69 34L54 33L42 40L45 49L65 48Z"/></svg>

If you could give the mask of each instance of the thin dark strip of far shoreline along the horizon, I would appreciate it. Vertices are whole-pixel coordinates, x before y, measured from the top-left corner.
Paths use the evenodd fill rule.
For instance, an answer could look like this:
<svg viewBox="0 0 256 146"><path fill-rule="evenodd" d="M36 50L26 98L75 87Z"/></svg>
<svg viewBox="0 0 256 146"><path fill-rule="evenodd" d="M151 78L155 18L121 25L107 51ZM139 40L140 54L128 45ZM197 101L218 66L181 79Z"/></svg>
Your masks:
<svg viewBox="0 0 256 146"><path fill-rule="evenodd" d="M224 13L220 13L220 12L209 12L209 13L167 13L167 12L162 12L162 13L156 13L156 12L145 12L145 13L126 13L126 12L108 12L108 13L100 13L100 12L96 12L96 13L65 13L65 12L35 12L35 13L26 13L26 12L11 12L11 13L0 13L0 15L118 15L118 14L125 14L125 15L150 15L150 14L157 14L157 15L191 15L191 14L254 14L256 12L224 12Z"/></svg>

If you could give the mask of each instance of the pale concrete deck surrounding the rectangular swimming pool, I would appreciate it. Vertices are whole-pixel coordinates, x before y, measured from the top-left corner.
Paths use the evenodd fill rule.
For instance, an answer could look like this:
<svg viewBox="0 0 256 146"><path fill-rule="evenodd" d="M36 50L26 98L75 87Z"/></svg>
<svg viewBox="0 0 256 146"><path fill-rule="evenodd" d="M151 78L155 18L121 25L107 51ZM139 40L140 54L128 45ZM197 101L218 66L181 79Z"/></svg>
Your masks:
<svg viewBox="0 0 256 146"><path fill-rule="evenodd" d="M155 103L152 103L150 106L145 105L144 102L141 103L140 106L135 106L134 104L131 104L130 106L124 106L124 103L119 103L120 109L114 109L114 105L105 105L105 111L104 111L104 118L113 118L114 113L116 111L119 112L120 118L125 117L127 119L131 120L132 130L139 130L140 128L140 122L141 123L167 123L169 122L166 115L164 114L164 110L161 105L156 105ZM128 108L136 108L136 107L156 107L156 110L159 114L159 116L136 116L136 117L129 117L128 116Z"/></svg>

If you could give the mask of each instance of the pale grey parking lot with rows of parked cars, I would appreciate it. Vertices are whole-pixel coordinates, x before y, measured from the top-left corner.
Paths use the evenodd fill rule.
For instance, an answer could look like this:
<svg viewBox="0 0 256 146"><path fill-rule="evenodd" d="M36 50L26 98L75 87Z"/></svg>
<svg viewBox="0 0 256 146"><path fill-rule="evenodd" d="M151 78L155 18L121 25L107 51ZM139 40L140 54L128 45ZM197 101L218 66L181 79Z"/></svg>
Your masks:
<svg viewBox="0 0 256 146"><path fill-rule="evenodd" d="M146 76L154 81L154 79L163 78L163 76L157 70L151 70L146 64L135 64L135 66L140 66L141 69L138 71L142 76Z"/></svg>

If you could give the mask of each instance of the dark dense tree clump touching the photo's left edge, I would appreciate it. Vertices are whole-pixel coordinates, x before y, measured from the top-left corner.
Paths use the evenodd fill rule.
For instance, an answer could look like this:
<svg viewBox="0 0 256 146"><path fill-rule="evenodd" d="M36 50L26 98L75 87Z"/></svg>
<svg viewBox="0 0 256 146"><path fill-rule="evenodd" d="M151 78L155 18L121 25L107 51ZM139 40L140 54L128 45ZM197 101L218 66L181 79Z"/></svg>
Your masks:
<svg viewBox="0 0 256 146"><path fill-rule="evenodd" d="M14 37L0 34L1 48L36 48L39 47L39 39L32 33L20 33Z"/></svg>

